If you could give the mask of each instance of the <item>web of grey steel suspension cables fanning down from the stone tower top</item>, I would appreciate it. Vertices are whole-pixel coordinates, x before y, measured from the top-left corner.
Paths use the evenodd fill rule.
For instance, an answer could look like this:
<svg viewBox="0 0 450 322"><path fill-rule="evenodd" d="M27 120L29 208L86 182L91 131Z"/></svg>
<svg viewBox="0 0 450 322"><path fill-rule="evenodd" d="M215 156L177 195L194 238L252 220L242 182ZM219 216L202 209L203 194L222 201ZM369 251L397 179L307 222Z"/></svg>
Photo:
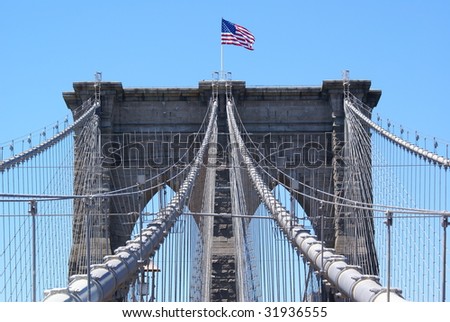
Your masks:
<svg viewBox="0 0 450 322"><path fill-rule="evenodd" d="M327 164L338 169L334 181L320 167L302 169L308 182L279 167L270 142L247 132L228 84L228 133L218 133L214 90L199 131L187 137L102 136L99 101L88 100L73 126L0 162L0 301L36 301L42 289L50 289L46 301L204 301L220 216L232 223L240 301L403 300L397 287L407 299L446 301L450 161L373 122L349 84L345 142L334 133L282 142L295 150L308 141L313 152L339 145ZM206 192L216 185L224 135L232 211L220 214ZM169 157L158 146L183 140L186 151ZM142 142L158 164L142 166ZM306 159L316 161L314 153ZM192 213L200 173L206 192ZM69 285L55 288L67 276Z"/></svg>

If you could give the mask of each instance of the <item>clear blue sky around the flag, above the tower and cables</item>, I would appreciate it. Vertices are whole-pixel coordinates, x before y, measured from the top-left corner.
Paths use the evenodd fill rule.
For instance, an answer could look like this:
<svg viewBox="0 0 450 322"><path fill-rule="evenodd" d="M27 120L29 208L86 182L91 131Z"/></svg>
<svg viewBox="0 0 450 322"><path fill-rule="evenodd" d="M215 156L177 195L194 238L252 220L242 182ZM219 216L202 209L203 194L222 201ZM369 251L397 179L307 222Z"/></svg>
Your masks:
<svg viewBox="0 0 450 322"><path fill-rule="evenodd" d="M220 21L255 50L226 46L225 69L247 85L369 79L375 113L450 141L450 1L2 1L0 144L62 120L76 81L190 86L220 69Z"/></svg>

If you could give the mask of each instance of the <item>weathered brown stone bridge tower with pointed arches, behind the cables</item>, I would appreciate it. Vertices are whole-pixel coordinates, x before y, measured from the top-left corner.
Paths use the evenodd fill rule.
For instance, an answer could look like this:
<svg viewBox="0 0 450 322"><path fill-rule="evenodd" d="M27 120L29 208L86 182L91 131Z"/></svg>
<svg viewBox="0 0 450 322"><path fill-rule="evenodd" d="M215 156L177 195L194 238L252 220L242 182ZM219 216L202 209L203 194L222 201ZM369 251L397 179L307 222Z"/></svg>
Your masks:
<svg viewBox="0 0 450 322"><path fill-rule="evenodd" d="M77 108L94 95L94 85L93 82L74 83L74 91L63 94L75 119L80 115ZM257 146L267 156L265 161L276 165L284 174L273 169L269 171L288 190L300 192L294 196L310 218L318 238L327 247L350 256L345 254L343 241L351 239L342 236L340 214L333 204L323 205L303 195L314 195L315 189L320 189L328 192L333 201L345 189L342 185L345 164L341 153L345 142L342 81L324 81L317 87L247 87L243 81L232 81L231 85L253 147ZM381 92L371 90L370 85L370 81L351 81L351 92L374 107ZM193 152L185 152L199 143L194 134L202 124L211 96L211 81L201 81L197 88L123 88L119 82L102 82L101 106L96 112L101 149L97 156L100 164L98 180L102 191L123 189L160 173L164 173L161 183L176 190L180 182L171 179L173 173L164 171L175 163L188 163L193 157ZM219 82L217 149L209 152L209 159L216 162L214 165L205 162L190 201L193 212L232 212L225 101L225 84ZM77 146L75 148L77 151ZM211 158L212 154L214 158ZM207 169L213 171L213 176L207 176ZM76 170L78 173L83 171ZM246 176L243 174L242 177ZM205 180L215 182L213 191L204 189ZM247 208L256 210L259 201L253 187L245 180L243 184ZM85 187L75 180L74 188L80 193ZM158 189L154 189L140 198L124 195L102 202L105 218L93 225L97 236L94 247L102 248L100 255L107 255L125 244L141 209L157 192ZM80 206L83 202L86 201L75 200L74 209L86 209ZM76 227L85 220L84 214L75 215L71 274L80 270L76 263L82 256L79 251L81 241ZM201 221L200 218L197 220ZM234 286L228 286L225 291L222 287L220 291L220 285L234 277L234 237L230 226L231 221L214 222L211 269L226 267L223 276L218 271L212 274L216 280L211 281L210 300L214 301L236 299ZM375 254L371 256L375 257Z"/></svg>

